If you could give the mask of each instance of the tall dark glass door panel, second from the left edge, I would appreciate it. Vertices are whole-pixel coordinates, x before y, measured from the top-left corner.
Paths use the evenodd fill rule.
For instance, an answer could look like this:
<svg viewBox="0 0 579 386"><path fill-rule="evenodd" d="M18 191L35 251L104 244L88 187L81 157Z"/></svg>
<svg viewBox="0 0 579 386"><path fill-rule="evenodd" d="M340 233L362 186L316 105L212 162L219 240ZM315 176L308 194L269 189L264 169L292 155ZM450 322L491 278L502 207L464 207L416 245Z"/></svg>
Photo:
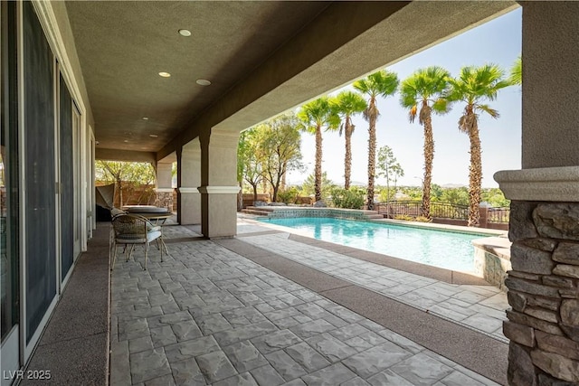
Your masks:
<svg viewBox="0 0 579 386"><path fill-rule="evenodd" d="M25 343L31 344L57 296L54 56L33 5L24 22ZM33 344L33 342L32 342Z"/></svg>

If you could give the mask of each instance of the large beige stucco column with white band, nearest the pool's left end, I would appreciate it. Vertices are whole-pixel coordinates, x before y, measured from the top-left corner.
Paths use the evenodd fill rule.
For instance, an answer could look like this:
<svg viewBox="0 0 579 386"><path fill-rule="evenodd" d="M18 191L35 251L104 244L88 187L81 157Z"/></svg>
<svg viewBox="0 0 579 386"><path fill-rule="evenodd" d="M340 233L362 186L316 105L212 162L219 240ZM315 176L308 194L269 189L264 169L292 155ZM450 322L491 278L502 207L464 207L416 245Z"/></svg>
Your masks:
<svg viewBox="0 0 579 386"><path fill-rule="evenodd" d="M207 238L237 233L237 143L239 133L213 128L201 140L201 230Z"/></svg>

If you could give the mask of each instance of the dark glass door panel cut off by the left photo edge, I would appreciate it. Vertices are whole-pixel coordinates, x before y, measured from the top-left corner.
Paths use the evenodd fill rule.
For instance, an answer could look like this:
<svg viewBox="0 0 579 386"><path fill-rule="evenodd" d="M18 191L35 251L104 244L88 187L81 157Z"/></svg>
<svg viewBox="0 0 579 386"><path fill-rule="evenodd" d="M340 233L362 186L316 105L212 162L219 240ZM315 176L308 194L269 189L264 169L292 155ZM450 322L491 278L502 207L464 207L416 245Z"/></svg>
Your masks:
<svg viewBox="0 0 579 386"><path fill-rule="evenodd" d="M20 367L20 177L15 2L0 3L0 22L0 362L2 373L10 374ZM2 378L3 386L12 381Z"/></svg>

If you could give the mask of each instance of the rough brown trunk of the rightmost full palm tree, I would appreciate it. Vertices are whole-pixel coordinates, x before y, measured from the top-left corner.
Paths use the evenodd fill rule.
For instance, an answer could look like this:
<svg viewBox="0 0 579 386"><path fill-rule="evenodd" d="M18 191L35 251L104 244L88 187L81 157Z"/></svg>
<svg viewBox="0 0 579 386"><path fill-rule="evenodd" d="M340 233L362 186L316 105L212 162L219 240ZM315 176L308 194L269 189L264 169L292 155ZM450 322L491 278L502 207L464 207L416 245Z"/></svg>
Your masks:
<svg viewBox="0 0 579 386"><path fill-rule="evenodd" d="M480 160L479 123L474 118L469 130L470 171L469 171L469 226L479 226L480 184L482 182L482 162Z"/></svg>

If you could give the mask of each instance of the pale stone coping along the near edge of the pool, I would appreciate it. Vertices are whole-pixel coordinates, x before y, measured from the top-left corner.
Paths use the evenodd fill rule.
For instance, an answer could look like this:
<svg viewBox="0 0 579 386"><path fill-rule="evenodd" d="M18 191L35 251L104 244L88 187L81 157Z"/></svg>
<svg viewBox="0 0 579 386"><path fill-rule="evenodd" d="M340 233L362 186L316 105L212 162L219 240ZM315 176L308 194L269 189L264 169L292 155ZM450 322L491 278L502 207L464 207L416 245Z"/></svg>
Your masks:
<svg viewBox="0 0 579 386"><path fill-rule="evenodd" d="M384 267L399 269L404 272L412 273L414 275L419 275L424 278L433 278L435 280L440 280L448 284L457 285L475 285L475 286L492 286L484 278L480 278L473 274L463 271L451 270L446 268L434 267L427 264L418 263L411 260L395 258L394 256L384 255L382 253L371 252L364 249L356 249L353 247L348 247L346 245L337 244L331 241L318 240L311 237L307 232L297 231L292 228L284 227L278 224L271 224L268 222L263 222L257 220L259 216L255 219L250 219L245 217L245 221L252 221L257 225L263 226L265 228L271 228L276 231L289 233L289 240L294 240L301 242L303 244L308 244L321 249L327 249L332 252L340 253L342 255L349 256L355 259L365 260L371 263L375 263ZM390 222L392 220L388 220ZM396 221L395 223L399 223ZM421 223L422 224L422 223ZM431 224L431 225L441 225L441 227L452 227L452 228L463 228L456 225L442 225L442 224ZM417 226L414 226L417 227ZM437 227L438 228L438 227ZM473 233L472 231L470 233ZM474 232L477 233L477 232ZM271 234L271 231L264 231L263 234ZM497 234L497 231L494 232ZM258 233L242 233L237 234L237 238L243 237L253 237L258 235Z"/></svg>

